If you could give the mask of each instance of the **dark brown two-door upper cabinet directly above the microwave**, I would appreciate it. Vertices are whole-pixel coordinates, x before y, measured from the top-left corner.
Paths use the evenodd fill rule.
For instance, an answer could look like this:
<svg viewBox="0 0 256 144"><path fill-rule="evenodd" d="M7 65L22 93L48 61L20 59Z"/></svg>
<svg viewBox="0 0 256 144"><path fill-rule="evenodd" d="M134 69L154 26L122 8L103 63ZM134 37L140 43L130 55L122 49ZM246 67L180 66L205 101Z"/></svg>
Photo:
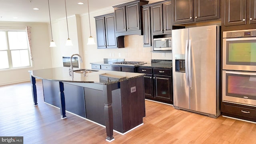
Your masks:
<svg viewBox="0 0 256 144"><path fill-rule="evenodd" d="M172 2L150 6L151 34L170 34L172 32Z"/></svg>

